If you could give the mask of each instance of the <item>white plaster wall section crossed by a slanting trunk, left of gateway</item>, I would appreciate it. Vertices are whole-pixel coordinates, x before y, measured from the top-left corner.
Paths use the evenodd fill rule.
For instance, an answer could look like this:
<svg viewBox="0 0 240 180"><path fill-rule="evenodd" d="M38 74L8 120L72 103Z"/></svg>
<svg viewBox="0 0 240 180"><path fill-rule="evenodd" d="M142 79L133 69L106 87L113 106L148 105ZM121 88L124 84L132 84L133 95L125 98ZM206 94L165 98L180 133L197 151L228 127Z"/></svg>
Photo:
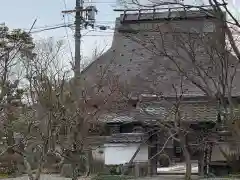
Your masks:
<svg viewBox="0 0 240 180"><path fill-rule="evenodd" d="M104 156L106 165L125 164L130 161L139 144L105 144ZM148 160L148 146L143 145L134 159L134 162L146 162Z"/></svg>

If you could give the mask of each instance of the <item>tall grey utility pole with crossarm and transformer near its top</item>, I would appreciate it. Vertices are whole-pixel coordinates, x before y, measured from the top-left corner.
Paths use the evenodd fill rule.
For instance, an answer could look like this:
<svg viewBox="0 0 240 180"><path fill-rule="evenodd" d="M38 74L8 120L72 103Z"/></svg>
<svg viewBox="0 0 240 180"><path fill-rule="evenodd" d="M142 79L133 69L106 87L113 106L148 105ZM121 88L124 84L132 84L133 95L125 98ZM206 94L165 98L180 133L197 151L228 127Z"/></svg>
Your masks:
<svg viewBox="0 0 240 180"><path fill-rule="evenodd" d="M84 0L76 0L76 7L74 10L65 10L62 13L74 13L75 12L75 60L73 65L74 78L73 78L73 94L76 99L76 111L79 109L79 99L81 97L81 89L80 89L80 76L81 76L81 30L83 27L87 28L88 26L94 28L95 24L95 14L97 13L97 9L95 6L87 6L84 7ZM102 27L103 28L103 27ZM104 28L103 28L104 29ZM80 115L81 116L81 115ZM80 153L82 153L82 144L78 142L80 126L82 121L82 117L76 117L76 127L73 130L73 144L72 144L72 152L76 153L77 157L73 155L73 173L72 180L77 180L77 170L78 170L78 158Z"/></svg>

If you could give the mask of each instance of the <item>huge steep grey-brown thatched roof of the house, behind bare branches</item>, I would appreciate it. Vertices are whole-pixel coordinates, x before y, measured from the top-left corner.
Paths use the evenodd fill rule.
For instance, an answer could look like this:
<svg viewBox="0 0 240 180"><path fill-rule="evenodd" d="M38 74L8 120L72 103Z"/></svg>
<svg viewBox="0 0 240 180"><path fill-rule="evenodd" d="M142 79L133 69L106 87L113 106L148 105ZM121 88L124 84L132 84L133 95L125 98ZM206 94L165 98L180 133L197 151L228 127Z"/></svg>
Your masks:
<svg viewBox="0 0 240 180"><path fill-rule="evenodd" d="M212 20L181 20L171 21L169 23L171 23L173 28L182 29L187 32L191 28L200 30L208 22L212 22ZM154 42L156 41L156 45L159 46L157 49L161 49L161 39L163 37L161 37L156 30L154 32L148 32L148 30L151 27L153 28L153 26L156 26L156 28L160 26L161 31L168 32L169 25L164 21L155 22L155 25L154 23L144 22L121 24L119 19L117 19L116 26L117 30L115 30L111 48L83 71L86 80L93 82L94 78L98 76L97 71L103 67L107 67L110 73L119 76L120 82L122 82L127 91L132 94L151 94L154 91L158 91L165 96L175 95L175 90L172 88L172 85L174 84L176 87L180 86L181 78L179 72L176 71L176 67L171 60L159 53L149 51L149 49L153 49L154 47L152 47L152 43L148 42L152 38ZM122 26L128 29L147 28L146 36L144 32L140 34L118 32L118 29ZM132 36L132 38L126 37L127 35ZM167 35L164 38L166 38L164 39L165 48L173 50L172 46L176 40ZM180 49L179 53L182 53L182 56L186 57L185 59L183 57L179 58L179 63L182 63L186 71L191 72L192 65L191 62L189 62L189 57L186 55L186 52L184 53ZM184 61L182 59L184 59ZM204 53L199 53L196 60L207 63L207 59ZM228 59L229 62L236 61L236 58L231 54L229 54ZM240 77L240 71L237 71L236 77ZM240 95L240 84L237 83L236 79L237 78L235 78L233 94ZM182 88L185 90L185 94L205 95L202 90L189 80L183 79L182 81ZM211 84L212 83L209 83L209 86L211 86Z"/></svg>

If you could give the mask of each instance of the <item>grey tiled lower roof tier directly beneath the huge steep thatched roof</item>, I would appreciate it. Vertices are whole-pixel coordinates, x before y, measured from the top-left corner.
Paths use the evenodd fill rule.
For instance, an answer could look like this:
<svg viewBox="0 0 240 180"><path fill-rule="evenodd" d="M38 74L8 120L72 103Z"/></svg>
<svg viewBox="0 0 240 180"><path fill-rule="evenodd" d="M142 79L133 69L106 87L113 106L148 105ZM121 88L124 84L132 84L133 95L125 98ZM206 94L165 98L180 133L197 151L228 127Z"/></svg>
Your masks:
<svg viewBox="0 0 240 180"><path fill-rule="evenodd" d="M173 121L175 117L172 103L174 102L171 102L171 99L140 101L137 108L125 110L125 116L123 113L114 116L108 115L108 118L105 118L102 122L155 124L157 121ZM186 100L181 103L180 112L183 121L216 121L217 103L207 100Z"/></svg>

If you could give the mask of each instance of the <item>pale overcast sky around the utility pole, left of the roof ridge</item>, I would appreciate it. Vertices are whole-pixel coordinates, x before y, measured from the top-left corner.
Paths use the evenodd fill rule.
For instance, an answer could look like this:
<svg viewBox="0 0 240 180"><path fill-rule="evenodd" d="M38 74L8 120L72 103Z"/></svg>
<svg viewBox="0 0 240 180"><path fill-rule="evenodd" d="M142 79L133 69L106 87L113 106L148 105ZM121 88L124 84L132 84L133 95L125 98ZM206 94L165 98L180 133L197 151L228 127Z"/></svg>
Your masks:
<svg viewBox="0 0 240 180"><path fill-rule="evenodd" d="M92 3L89 3L92 1ZM141 0L142 2L147 0ZM192 3L193 0L185 0L186 4ZM202 3L206 0L195 0ZM231 2L230 2L231 1ZM232 7L239 7L240 0L229 0ZM66 4L66 8L65 8ZM116 8L116 0L85 0L85 5L95 5L98 9L96 16L96 25L106 25L111 28L106 31L100 31L98 28L94 31L83 30L82 39L82 56L91 58L93 51L97 48L101 51L103 48L111 46L113 27L115 19L119 15L114 12ZM10 28L29 29L37 19L34 28L38 29L43 26L52 26L64 23L63 14L61 11L65 9L74 9L75 0L14 0L3 1L0 6L0 24L5 23ZM74 14L65 16L66 22L74 22ZM68 54L71 58L71 53L74 54L74 33L73 29L60 28L41 33L34 33L35 39L43 39L53 37L55 40L64 40L66 44L69 42ZM86 60L88 61L88 58Z"/></svg>

